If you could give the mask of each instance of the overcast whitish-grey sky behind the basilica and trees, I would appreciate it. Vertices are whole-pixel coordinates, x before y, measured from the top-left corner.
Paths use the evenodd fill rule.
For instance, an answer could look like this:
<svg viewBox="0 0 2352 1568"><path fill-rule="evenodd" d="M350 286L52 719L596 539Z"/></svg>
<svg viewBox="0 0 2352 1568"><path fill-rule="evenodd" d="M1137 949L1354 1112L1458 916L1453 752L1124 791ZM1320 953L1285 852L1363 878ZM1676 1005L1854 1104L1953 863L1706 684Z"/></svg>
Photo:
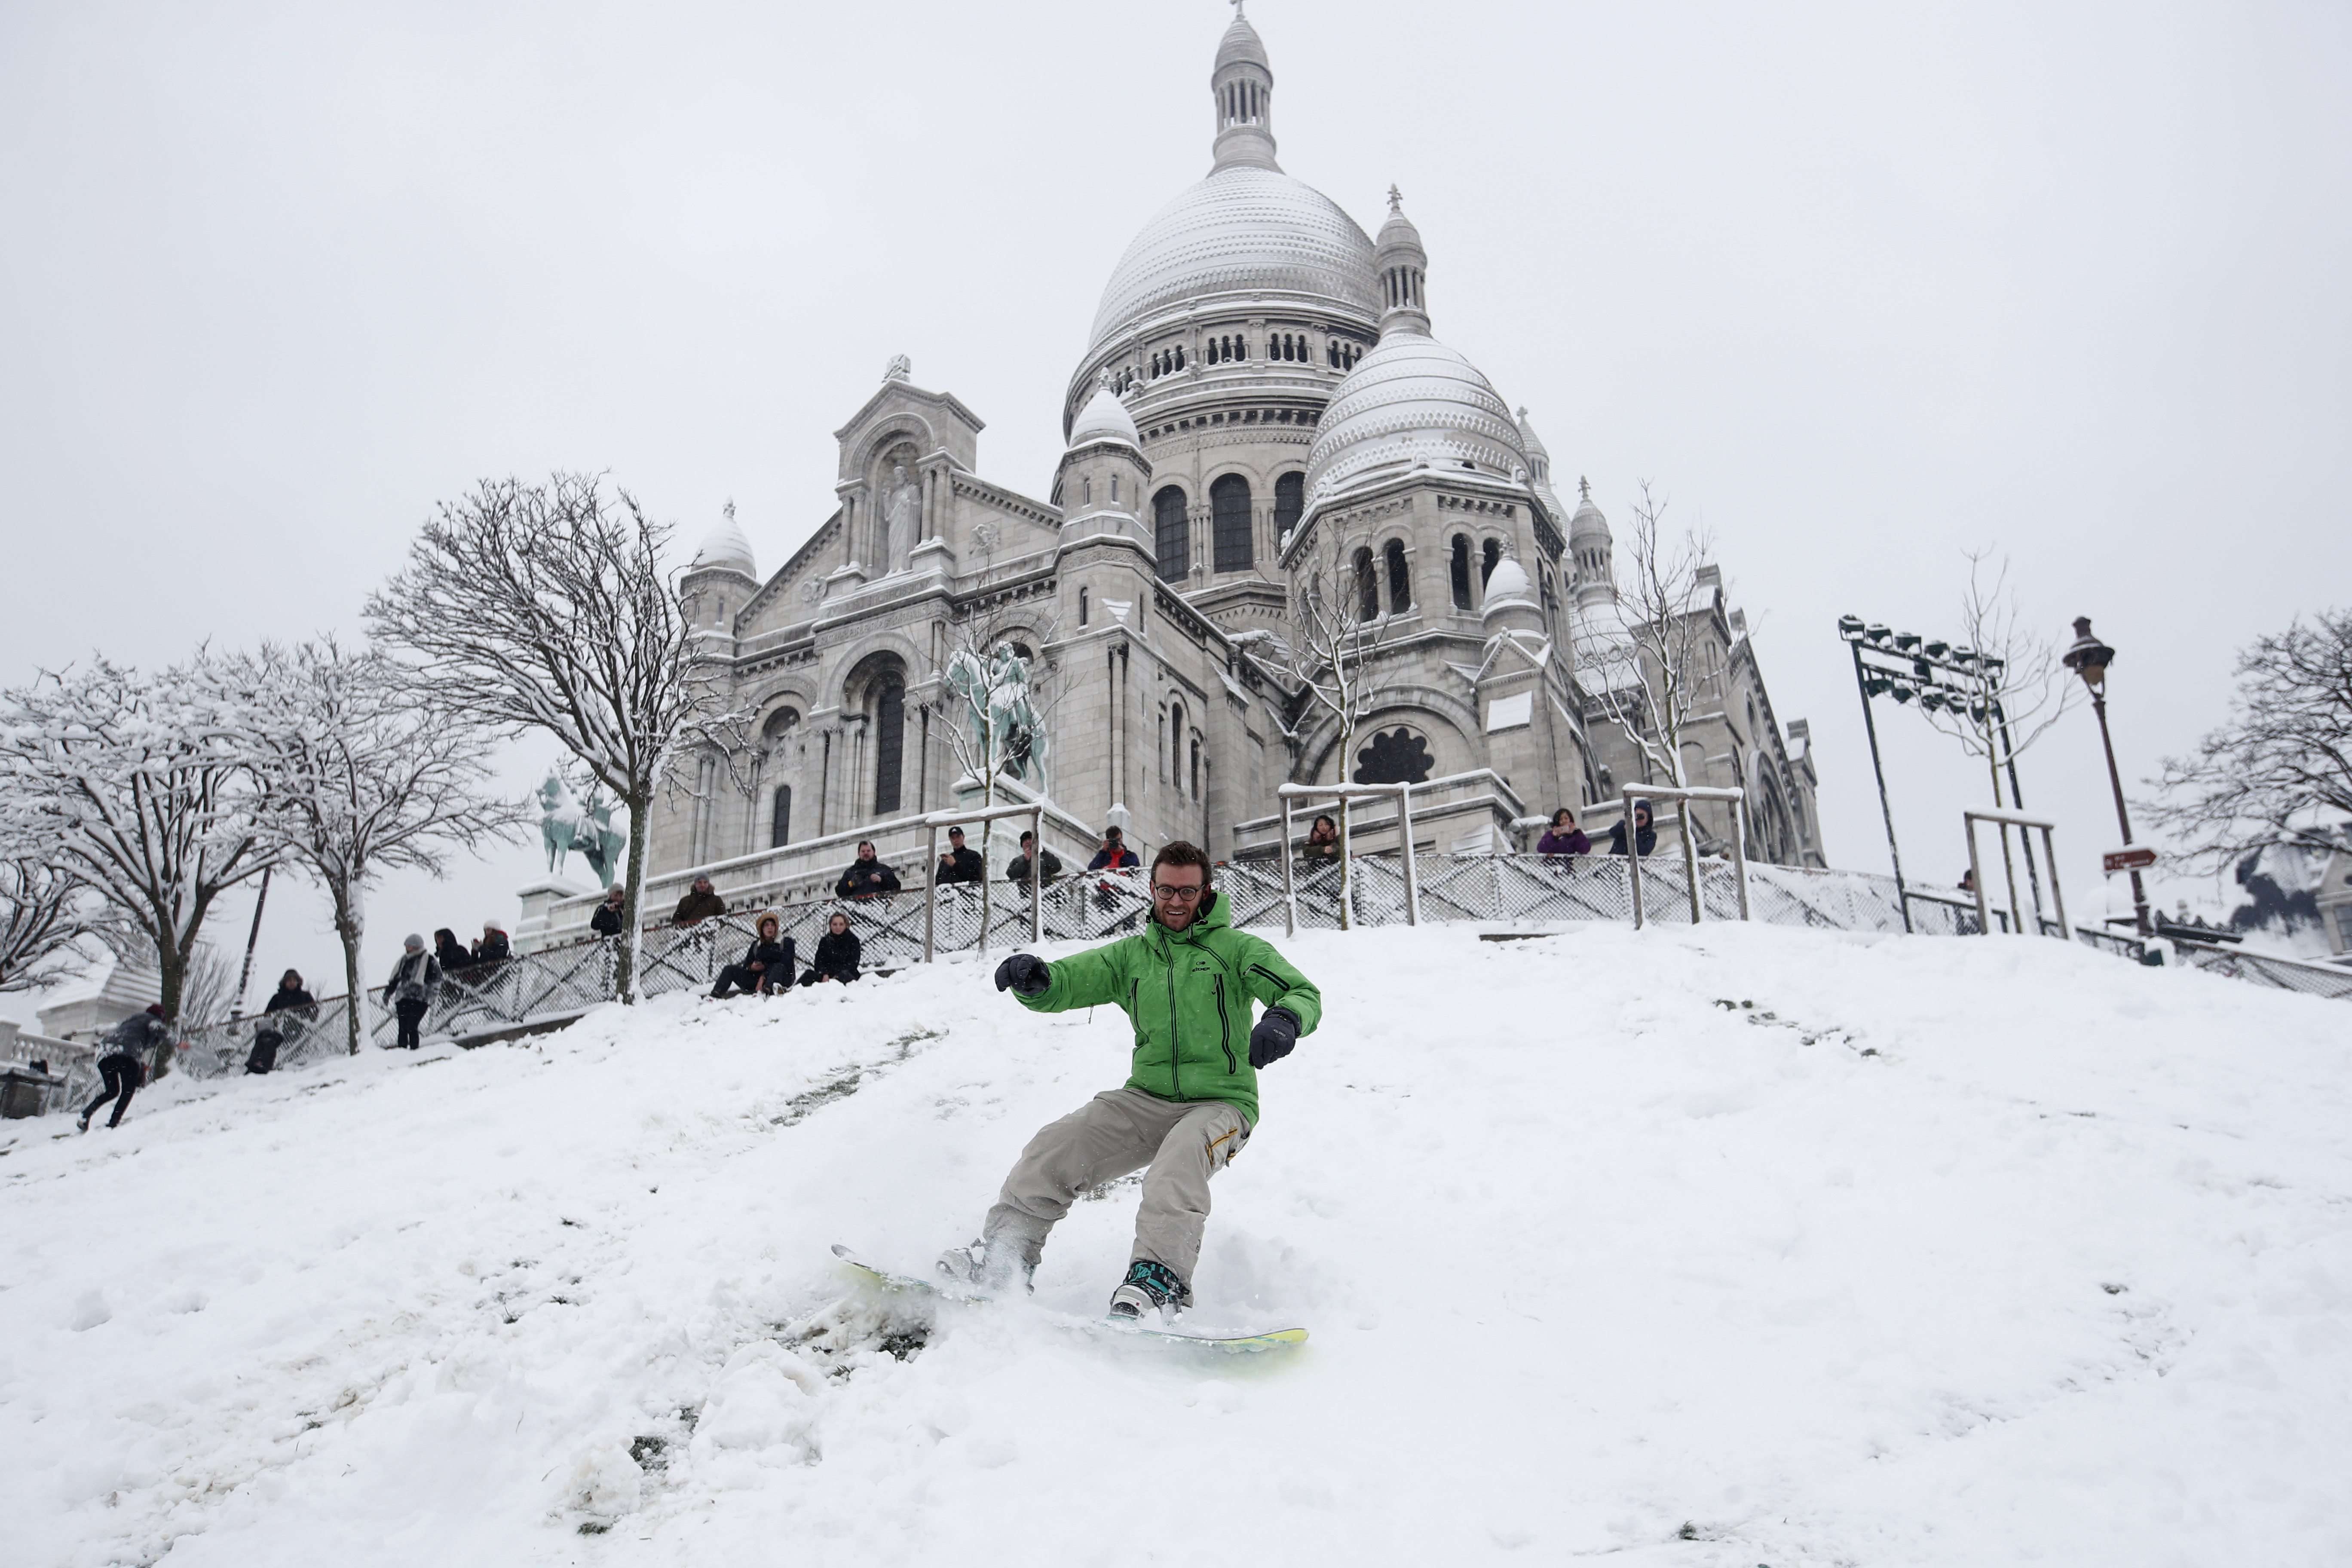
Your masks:
<svg viewBox="0 0 2352 1568"><path fill-rule="evenodd" d="M774 569L894 353L1044 494L1103 280L1207 172L1228 19L0 0L0 679L355 632L494 473L604 468L687 548L734 496ZM1886 865L1835 618L1950 632L1964 548L2122 649L2126 780L2220 717L2232 649L2347 597L2352 7L1251 21L1284 169L1367 228L1404 188L1437 334L1559 477L1712 529L1832 863ZM1884 703L1882 736L1907 870L1952 882L1978 776ZM2023 771L2096 914L2089 710ZM372 978L536 870L386 886ZM339 971L306 893L270 900L289 961Z"/></svg>

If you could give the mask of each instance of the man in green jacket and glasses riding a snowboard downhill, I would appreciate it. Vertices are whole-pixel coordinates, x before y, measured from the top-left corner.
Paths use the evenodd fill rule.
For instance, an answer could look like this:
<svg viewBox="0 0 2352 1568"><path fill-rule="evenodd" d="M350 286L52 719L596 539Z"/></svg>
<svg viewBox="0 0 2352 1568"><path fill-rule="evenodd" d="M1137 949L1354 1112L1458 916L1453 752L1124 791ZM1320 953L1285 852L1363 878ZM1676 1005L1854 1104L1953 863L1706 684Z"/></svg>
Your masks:
<svg viewBox="0 0 2352 1568"><path fill-rule="evenodd" d="M990 1291L1028 1284L1047 1232L1084 1187L1143 1168L1143 1208L1112 1316L1190 1305L1185 1281L1209 1220L1209 1178L1232 1164L1258 1121L1258 1070L1322 1020L1322 992L1272 943L1232 929L1209 886L1209 856L1169 844L1152 860L1152 917L1136 936L1068 959L1016 952L997 966L1035 1013L1120 1006L1136 1030L1134 1072L1021 1150L981 1239L938 1269ZM1251 1027L1249 1001L1265 1004ZM1145 1168L1148 1166L1148 1168Z"/></svg>

